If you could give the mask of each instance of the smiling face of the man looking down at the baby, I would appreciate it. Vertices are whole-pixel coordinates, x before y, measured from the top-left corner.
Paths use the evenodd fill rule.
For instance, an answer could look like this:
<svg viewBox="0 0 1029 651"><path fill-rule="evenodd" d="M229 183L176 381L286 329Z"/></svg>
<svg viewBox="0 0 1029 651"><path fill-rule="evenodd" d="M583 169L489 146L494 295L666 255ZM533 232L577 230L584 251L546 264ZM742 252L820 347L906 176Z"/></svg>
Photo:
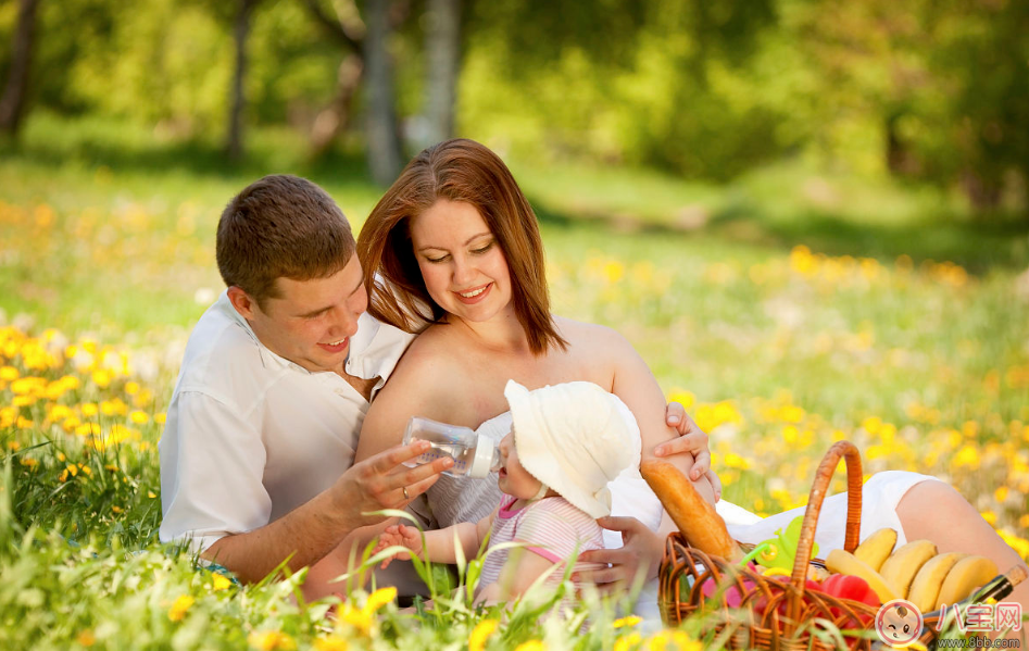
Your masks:
<svg viewBox="0 0 1029 651"><path fill-rule="evenodd" d="M311 280L276 279L279 298L237 305L268 350L311 372L343 374L357 317L368 309L357 255L337 273ZM236 300L233 301L236 304Z"/></svg>

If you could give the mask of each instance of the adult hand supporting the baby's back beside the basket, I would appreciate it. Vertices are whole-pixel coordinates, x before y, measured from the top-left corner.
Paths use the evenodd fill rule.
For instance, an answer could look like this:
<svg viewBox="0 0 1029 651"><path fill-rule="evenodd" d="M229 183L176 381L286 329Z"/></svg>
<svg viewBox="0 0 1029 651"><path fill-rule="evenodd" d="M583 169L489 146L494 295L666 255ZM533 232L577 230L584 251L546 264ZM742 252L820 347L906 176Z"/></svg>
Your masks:
<svg viewBox="0 0 1029 651"><path fill-rule="evenodd" d="M576 572L581 581L592 581L604 594L622 592L632 587L637 575L644 580L657 576L657 566L664 553L664 538L648 529L635 517L607 516L598 518L597 524L613 531L622 531L620 549L592 549L582 552L582 563L605 563L606 569L587 569Z"/></svg>

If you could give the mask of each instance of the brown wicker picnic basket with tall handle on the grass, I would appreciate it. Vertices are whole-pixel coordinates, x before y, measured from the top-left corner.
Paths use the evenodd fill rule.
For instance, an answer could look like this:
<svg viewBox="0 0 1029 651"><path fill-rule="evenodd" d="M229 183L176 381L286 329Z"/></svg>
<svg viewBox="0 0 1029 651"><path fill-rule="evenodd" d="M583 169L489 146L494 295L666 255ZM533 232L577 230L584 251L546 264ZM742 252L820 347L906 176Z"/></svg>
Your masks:
<svg viewBox="0 0 1029 651"><path fill-rule="evenodd" d="M853 443L839 441L829 449L815 475L790 579L778 577L777 580L750 565L740 566L705 554L690 547L679 533L672 534L658 573L658 604L665 624L678 626L685 618L700 613L707 630L714 630L730 649L869 650L877 639L874 631L877 608L805 590L815 526L841 456L846 462L848 491L844 549L853 552L861 527L861 454ZM816 560L815 564L820 561ZM705 594L704 584L708 581L717 589L707 586ZM923 643L928 644L936 634L934 615L926 615ZM848 633L838 636L832 633L833 627ZM865 633L853 635L853 631Z"/></svg>

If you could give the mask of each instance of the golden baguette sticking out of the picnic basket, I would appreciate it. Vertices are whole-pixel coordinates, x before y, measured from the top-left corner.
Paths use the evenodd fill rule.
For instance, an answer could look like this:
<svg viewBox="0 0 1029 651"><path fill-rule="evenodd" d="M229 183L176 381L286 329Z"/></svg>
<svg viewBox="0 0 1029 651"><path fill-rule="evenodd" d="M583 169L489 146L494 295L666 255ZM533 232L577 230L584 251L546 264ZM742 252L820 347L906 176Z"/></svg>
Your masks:
<svg viewBox="0 0 1029 651"><path fill-rule="evenodd" d="M679 468L667 461L648 459L640 464L640 474L690 546L729 562L742 559L740 546L729 536L725 521Z"/></svg>

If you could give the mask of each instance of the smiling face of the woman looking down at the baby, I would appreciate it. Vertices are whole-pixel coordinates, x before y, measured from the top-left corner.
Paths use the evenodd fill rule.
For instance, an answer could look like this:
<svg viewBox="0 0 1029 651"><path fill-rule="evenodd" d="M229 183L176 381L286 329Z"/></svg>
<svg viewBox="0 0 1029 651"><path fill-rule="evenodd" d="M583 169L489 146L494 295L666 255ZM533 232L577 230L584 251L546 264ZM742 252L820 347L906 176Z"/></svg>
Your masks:
<svg viewBox="0 0 1029 651"><path fill-rule="evenodd" d="M425 287L459 318L486 322L511 313L511 274L500 243L470 203L439 199L411 221Z"/></svg>

